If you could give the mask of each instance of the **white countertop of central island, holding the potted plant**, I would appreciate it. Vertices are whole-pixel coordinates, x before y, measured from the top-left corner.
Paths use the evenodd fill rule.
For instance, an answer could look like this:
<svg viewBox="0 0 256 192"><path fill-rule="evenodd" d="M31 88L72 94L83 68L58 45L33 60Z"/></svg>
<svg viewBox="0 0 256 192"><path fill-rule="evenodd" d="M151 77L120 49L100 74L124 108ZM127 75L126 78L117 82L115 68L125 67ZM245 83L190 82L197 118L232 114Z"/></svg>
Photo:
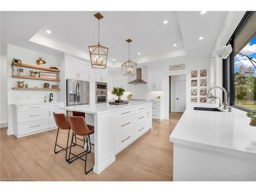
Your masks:
<svg viewBox="0 0 256 192"><path fill-rule="evenodd" d="M151 102L138 101L138 102L129 102L128 104L122 104L122 105L111 105L109 103L83 104L83 105L61 107L59 109L84 112L84 113L90 113L90 114L101 114L101 113L108 113L112 111L133 108L135 106L141 106L145 104L151 104Z"/></svg>

